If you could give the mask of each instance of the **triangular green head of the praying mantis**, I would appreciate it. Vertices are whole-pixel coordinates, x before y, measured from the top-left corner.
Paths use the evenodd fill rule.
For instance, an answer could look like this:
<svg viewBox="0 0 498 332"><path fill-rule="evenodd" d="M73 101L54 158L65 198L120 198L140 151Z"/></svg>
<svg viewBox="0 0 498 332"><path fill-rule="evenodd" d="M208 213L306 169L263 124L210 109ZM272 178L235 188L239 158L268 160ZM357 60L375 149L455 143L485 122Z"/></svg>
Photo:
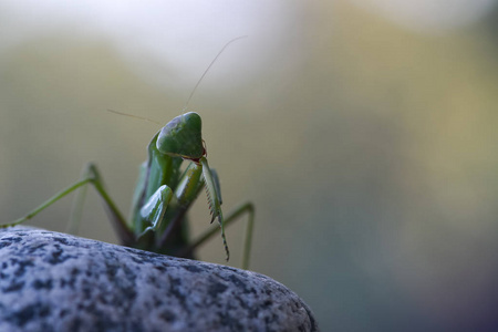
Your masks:
<svg viewBox="0 0 498 332"><path fill-rule="evenodd" d="M205 154L200 115L188 112L168 122L157 136L157 149L173 157L198 160Z"/></svg>

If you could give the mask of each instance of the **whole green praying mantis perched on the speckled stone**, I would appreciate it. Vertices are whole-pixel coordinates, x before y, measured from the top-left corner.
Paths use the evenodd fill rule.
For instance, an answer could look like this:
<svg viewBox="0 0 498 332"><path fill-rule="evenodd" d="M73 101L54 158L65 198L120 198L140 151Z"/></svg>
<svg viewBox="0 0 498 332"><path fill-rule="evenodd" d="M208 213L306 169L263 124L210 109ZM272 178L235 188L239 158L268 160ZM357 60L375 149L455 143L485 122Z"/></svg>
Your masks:
<svg viewBox="0 0 498 332"><path fill-rule="evenodd" d="M221 49L200 80L228 44L235 40ZM181 168L184 162L188 163L185 169ZM187 112L178 115L153 136L147 146L147 159L139 168L129 222L108 195L96 165L90 163L79 181L55 194L27 216L11 224L0 225L0 228L30 220L62 197L76 190L79 193L74 210L81 210L84 189L87 185L93 185L100 194L108 219L123 246L183 258L194 258L194 251L217 232L217 228L211 228L197 239L189 240L186 214L205 188L211 214L210 222L217 219L219 224L227 261L230 253L225 227L237 218L248 215L241 267L243 269L249 267L255 207L251 203L242 204L224 218L219 178L216 170L209 168L207 162L199 114ZM77 212L75 215L79 216Z"/></svg>

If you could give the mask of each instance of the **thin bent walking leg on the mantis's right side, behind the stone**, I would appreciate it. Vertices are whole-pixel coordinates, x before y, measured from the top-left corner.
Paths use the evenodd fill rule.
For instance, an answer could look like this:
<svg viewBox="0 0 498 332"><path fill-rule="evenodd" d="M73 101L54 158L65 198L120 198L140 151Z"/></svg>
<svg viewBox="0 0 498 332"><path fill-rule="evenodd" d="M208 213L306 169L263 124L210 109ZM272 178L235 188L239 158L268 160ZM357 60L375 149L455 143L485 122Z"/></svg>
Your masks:
<svg viewBox="0 0 498 332"><path fill-rule="evenodd" d="M248 215L248 222L246 227L246 239L243 242L243 253L242 253L242 269L247 270L249 268L249 256L251 251L251 243L252 243L252 229L255 224L255 206L252 203L246 203L238 208L236 208L234 211L231 211L227 218L225 218L225 226L228 226L232 224L237 218L240 216L247 214ZM208 240L210 237L216 235L218 232L218 228L214 227L203 235L200 235L196 240L194 240L187 248L181 250L181 256L184 255L191 255L191 252L200 245L203 245L206 240Z"/></svg>

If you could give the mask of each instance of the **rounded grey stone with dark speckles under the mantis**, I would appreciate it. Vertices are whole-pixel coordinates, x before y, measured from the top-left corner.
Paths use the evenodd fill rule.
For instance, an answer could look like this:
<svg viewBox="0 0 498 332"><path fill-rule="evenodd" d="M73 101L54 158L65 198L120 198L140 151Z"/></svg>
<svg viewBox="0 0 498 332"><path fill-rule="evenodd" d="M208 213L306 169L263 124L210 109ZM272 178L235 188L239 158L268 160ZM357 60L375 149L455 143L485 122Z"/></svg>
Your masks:
<svg viewBox="0 0 498 332"><path fill-rule="evenodd" d="M0 231L0 331L318 331L308 305L250 271L64 234Z"/></svg>

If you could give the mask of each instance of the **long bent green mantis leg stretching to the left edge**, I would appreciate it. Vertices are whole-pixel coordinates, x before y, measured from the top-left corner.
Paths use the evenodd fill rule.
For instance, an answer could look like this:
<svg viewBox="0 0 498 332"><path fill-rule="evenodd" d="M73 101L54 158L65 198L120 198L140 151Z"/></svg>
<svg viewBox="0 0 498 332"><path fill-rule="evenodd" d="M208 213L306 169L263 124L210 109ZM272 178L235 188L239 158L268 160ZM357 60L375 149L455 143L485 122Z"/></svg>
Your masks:
<svg viewBox="0 0 498 332"><path fill-rule="evenodd" d="M111 199L107 191L105 190L102 178L101 178L98 170L94 164L89 164L85 167L84 176L77 183L59 191L58 194L55 194L54 196L49 198L45 203L41 204L39 207L33 209L31 212L29 212L23 218L20 218L11 224L0 225L0 228L12 227L12 226L22 224L27 220L30 220L31 218L37 216L39 212L41 212L42 210L44 210L45 208L48 208L49 206L51 206L52 204L54 204L55 201L61 199L62 197L83 187L86 184L92 184L95 187L95 190L97 190L97 193L101 195L102 199L104 200L104 206L105 206L107 216L111 219L111 221L112 221L116 232L118 234L118 237L122 239L123 243L124 245L133 243L134 235L129 230L129 228L126 224L126 220L123 218L123 216L120 212L120 210L117 209L116 205ZM83 197L79 198L77 200L83 200ZM83 204L83 201L81 201L81 203L76 201L76 207L77 207L77 205L81 205L81 204Z"/></svg>

